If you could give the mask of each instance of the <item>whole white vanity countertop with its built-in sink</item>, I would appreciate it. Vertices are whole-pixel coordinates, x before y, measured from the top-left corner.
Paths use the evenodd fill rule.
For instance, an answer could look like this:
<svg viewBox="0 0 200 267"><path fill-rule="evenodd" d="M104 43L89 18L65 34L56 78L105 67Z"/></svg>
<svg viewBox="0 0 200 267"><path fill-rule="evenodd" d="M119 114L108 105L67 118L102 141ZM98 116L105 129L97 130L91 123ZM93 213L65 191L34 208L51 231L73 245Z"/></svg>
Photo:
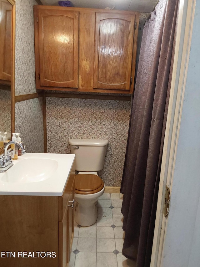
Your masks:
<svg viewBox="0 0 200 267"><path fill-rule="evenodd" d="M13 160L12 167L0 173L0 195L62 196L74 159L74 154L26 153L19 156ZM33 181L34 175L41 181ZM13 182L15 177L18 177L17 182ZM27 182L29 177L31 182Z"/></svg>

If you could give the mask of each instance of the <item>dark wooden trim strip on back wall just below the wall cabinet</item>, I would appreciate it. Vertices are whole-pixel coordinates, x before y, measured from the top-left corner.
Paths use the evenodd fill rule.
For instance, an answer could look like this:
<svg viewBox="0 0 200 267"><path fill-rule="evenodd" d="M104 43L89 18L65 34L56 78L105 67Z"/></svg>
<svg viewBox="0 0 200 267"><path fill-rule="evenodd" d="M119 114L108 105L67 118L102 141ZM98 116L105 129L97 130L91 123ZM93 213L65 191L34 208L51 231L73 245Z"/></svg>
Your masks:
<svg viewBox="0 0 200 267"><path fill-rule="evenodd" d="M88 95L88 94L68 94L68 93L45 93L46 97L60 98L82 98L82 99L99 99L99 100L125 100L131 101L131 96L123 95Z"/></svg>

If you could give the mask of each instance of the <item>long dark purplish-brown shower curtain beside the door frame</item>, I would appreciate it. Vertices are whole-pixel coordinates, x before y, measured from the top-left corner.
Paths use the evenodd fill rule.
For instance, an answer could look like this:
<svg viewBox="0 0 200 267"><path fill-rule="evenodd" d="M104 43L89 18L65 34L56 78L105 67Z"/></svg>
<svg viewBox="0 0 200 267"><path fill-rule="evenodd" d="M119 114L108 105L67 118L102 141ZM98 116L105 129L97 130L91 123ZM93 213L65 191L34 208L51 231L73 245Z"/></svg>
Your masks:
<svg viewBox="0 0 200 267"><path fill-rule="evenodd" d="M121 184L123 255L148 267L171 86L178 0L160 0L143 29Z"/></svg>

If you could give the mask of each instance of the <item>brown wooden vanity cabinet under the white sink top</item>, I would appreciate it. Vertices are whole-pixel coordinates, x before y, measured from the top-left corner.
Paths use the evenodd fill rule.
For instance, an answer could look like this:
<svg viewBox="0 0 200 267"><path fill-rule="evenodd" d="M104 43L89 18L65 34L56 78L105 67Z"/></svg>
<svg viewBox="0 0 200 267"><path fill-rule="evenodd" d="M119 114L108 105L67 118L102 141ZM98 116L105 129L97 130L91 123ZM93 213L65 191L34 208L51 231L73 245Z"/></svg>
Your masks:
<svg viewBox="0 0 200 267"><path fill-rule="evenodd" d="M1 257L1 267L68 266L74 232L74 209L70 207L74 179L73 164L63 196L0 195L0 250L15 253L15 257ZM24 257L18 257L18 252L24 252Z"/></svg>

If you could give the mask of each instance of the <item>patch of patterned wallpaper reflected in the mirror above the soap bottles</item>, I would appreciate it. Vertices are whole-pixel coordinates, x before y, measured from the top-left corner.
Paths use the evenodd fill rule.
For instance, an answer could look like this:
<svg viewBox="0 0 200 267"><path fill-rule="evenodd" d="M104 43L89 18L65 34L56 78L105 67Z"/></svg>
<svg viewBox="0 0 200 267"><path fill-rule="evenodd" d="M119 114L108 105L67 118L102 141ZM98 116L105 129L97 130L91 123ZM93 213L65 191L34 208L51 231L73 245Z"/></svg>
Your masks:
<svg viewBox="0 0 200 267"><path fill-rule="evenodd" d="M10 132L11 129L11 96L10 91L0 90L0 131Z"/></svg>

